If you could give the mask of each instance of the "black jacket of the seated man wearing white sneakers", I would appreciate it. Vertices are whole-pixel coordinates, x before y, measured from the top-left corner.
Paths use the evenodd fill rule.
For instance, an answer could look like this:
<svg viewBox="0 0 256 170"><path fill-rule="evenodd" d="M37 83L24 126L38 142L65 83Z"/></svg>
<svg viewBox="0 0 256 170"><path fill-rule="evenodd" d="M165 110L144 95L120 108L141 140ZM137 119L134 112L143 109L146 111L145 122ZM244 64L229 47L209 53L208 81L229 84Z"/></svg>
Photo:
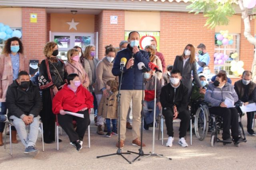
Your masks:
<svg viewBox="0 0 256 170"><path fill-rule="evenodd" d="M181 113L188 109L188 88L180 83L176 88L174 99L174 88L168 83L161 89L160 102L163 109L172 109L175 104L178 112Z"/></svg>

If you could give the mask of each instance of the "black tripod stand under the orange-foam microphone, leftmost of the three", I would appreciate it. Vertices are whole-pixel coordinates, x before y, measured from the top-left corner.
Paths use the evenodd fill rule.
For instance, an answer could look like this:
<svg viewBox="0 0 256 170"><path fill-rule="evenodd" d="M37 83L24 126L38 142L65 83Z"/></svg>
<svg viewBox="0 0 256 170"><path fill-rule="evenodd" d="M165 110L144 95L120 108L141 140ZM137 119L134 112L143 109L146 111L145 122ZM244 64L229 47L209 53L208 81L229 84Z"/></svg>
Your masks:
<svg viewBox="0 0 256 170"><path fill-rule="evenodd" d="M118 95L117 95L117 102L118 102L118 149L116 151L116 153L113 154L106 154L106 155L102 155L102 156L96 156L96 158L101 158L101 157L106 157L106 156L112 156L112 155L120 155L122 156L129 164L131 164L132 162L130 162L127 158L125 158L122 154L131 154L130 152L122 152L122 150L120 149L120 90L121 90L121 84L122 84L122 77L123 77L123 73L124 70L121 69L121 79L120 79L120 84L119 84L119 90L118 90Z"/></svg>

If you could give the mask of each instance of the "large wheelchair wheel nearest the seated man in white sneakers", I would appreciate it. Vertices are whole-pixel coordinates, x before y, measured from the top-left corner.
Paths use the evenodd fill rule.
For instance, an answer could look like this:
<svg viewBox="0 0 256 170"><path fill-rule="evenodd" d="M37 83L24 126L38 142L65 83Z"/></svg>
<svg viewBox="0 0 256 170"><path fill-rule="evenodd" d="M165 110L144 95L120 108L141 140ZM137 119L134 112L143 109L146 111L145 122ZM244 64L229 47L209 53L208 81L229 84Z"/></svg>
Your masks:
<svg viewBox="0 0 256 170"><path fill-rule="evenodd" d="M209 114L208 114L208 108L206 106L200 106L195 115L195 134L196 137L203 141L204 138L207 135L208 132L208 126L209 126Z"/></svg>

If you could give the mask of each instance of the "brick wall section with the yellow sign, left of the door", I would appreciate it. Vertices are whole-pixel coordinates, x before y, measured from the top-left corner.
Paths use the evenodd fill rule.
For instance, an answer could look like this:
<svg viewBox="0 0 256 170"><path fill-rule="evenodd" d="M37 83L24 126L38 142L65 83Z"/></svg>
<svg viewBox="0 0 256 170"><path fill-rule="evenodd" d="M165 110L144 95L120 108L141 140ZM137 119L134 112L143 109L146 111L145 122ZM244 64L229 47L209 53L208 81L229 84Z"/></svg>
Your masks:
<svg viewBox="0 0 256 170"><path fill-rule="evenodd" d="M37 23L30 23L30 13L37 14ZM22 8L22 43L28 60L44 59L43 49L46 43L46 10L40 8Z"/></svg>

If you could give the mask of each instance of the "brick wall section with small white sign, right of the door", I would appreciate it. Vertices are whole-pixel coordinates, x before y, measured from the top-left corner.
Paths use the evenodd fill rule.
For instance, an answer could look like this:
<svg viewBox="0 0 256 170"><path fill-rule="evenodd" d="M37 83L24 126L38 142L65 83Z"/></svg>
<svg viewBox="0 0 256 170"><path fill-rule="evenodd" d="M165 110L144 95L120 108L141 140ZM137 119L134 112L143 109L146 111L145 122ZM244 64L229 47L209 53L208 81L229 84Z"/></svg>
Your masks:
<svg viewBox="0 0 256 170"><path fill-rule="evenodd" d="M110 24L110 16L118 16L118 24ZM112 44L119 47L120 41L124 39L124 11L103 10L98 15L98 58L105 56L105 46Z"/></svg>

